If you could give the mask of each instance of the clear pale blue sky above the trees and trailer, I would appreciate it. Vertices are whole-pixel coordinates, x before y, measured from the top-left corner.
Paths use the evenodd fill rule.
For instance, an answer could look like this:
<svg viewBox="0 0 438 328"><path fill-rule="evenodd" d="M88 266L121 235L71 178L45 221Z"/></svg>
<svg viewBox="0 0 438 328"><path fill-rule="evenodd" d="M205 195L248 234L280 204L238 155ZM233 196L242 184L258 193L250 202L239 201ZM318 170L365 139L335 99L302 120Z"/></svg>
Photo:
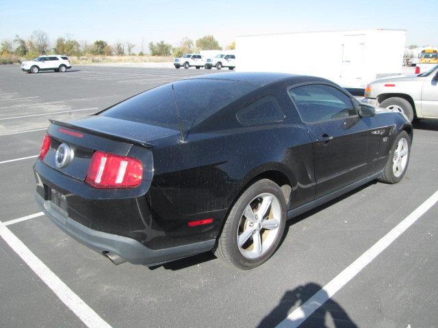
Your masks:
<svg viewBox="0 0 438 328"><path fill-rule="evenodd" d="M140 44L213 34L222 46L235 36L337 29L407 29L407 44L438 44L438 0L0 0L0 40L41 29L51 40Z"/></svg>

